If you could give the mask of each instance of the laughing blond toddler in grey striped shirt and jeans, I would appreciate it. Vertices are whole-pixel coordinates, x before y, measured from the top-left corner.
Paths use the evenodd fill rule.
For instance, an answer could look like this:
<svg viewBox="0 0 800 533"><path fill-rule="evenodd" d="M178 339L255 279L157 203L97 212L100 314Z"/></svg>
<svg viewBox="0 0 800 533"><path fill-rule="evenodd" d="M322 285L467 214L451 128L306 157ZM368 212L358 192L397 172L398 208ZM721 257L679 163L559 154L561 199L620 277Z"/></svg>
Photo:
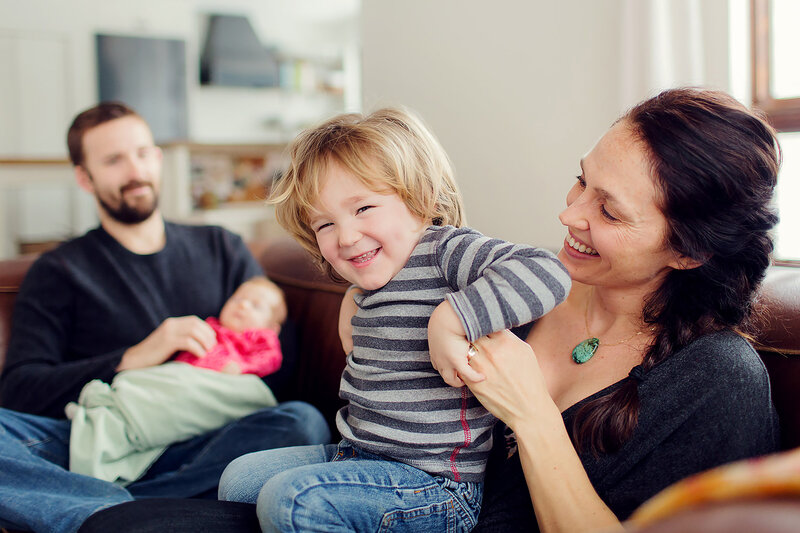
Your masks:
<svg viewBox="0 0 800 533"><path fill-rule="evenodd" d="M433 368L429 320L431 351L466 366L471 341L548 312L569 276L546 250L460 227L449 160L408 112L341 115L290 150L270 198L276 217L359 289L345 296L340 322L353 346L336 417L342 440L240 457L220 499L256 503L264 531L469 531L495 418Z"/></svg>

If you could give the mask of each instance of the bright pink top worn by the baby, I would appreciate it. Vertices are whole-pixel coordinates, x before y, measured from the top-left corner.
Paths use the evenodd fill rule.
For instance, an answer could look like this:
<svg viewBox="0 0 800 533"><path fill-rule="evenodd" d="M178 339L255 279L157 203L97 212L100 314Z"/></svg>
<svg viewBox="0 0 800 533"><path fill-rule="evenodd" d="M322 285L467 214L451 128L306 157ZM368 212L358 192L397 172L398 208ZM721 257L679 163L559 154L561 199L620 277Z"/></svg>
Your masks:
<svg viewBox="0 0 800 533"><path fill-rule="evenodd" d="M217 345L205 357L197 357L191 352L180 352L176 361L211 370L222 368L234 361L242 374L256 374L264 377L281 367L283 355L278 342L278 334L271 329L248 329L237 333L219 323L214 317L206 319L208 325L217 333Z"/></svg>

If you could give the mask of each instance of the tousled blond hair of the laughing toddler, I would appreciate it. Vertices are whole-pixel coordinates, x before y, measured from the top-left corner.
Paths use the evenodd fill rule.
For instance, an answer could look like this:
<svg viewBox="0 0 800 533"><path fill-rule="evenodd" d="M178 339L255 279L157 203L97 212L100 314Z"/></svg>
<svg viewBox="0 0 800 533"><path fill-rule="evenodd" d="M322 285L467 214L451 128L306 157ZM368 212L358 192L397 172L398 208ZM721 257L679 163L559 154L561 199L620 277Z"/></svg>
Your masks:
<svg viewBox="0 0 800 533"><path fill-rule="evenodd" d="M323 259L309 213L320 181L339 164L366 187L391 191L408 210L434 225L465 224L461 193L450 159L439 142L409 111L384 108L369 115L348 113L302 132L289 146L287 173L272 188L275 217L335 277Z"/></svg>

